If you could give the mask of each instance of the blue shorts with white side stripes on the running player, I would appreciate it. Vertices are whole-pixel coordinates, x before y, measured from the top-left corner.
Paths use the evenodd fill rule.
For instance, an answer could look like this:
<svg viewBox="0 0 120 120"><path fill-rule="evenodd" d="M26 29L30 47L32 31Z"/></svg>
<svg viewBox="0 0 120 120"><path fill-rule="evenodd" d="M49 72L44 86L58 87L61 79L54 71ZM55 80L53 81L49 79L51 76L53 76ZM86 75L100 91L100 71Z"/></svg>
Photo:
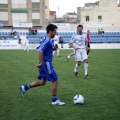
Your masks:
<svg viewBox="0 0 120 120"><path fill-rule="evenodd" d="M58 80L58 76L52 66L52 62L44 62L44 65L39 69L38 79L43 79L44 81L48 80L50 82Z"/></svg>

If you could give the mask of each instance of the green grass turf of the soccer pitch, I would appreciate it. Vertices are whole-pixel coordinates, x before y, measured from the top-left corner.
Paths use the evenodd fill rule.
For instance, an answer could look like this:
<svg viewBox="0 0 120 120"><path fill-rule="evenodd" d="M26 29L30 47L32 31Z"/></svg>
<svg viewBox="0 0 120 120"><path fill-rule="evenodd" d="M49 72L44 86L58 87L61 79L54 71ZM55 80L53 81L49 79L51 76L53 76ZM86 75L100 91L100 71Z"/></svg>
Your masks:
<svg viewBox="0 0 120 120"><path fill-rule="evenodd" d="M71 52L61 50L61 57L53 58L58 98L66 104L52 106L50 82L28 90L24 98L19 94L20 85L37 80L37 51L0 50L0 120L120 120L120 50L91 50L89 80L84 64L74 76L74 57L66 62ZM78 93L84 105L74 105Z"/></svg>

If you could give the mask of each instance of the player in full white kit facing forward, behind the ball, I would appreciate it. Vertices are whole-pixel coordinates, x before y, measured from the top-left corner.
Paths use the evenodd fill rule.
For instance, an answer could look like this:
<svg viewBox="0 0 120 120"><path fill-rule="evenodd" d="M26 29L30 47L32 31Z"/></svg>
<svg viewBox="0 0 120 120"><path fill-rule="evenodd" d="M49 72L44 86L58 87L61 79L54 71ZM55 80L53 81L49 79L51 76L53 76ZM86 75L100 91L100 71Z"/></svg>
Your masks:
<svg viewBox="0 0 120 120"><path fill-rule="evenodd" d="M84 61L84 70L85 70L85 78L88 79L90 78L88 76L88 56L86 53L87 49L87 36L82 32L83 26L78 25L77 26L77 33L74 34L70 40L70 45L75 49L75 56L77 63L75 65L74 73L75 76L78 77L78 67L81 65L81 61Z"/></svg>

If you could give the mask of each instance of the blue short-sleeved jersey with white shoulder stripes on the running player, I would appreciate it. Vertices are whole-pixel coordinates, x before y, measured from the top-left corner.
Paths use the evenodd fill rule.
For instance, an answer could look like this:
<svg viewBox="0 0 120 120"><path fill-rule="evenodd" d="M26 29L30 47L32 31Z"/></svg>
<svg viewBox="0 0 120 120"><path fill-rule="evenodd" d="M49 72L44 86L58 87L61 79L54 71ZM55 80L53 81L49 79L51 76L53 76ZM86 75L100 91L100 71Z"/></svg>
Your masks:
<svg viewBox="0 0 120 120"><path fill-rule="evenodd" d="M38 51L43 52L43 60L44 61L51 62L52 61L53 47L54 47L54 43L53 43L52 39L45 36L43 38L40 46L38 46L36 49Z"/></svg>

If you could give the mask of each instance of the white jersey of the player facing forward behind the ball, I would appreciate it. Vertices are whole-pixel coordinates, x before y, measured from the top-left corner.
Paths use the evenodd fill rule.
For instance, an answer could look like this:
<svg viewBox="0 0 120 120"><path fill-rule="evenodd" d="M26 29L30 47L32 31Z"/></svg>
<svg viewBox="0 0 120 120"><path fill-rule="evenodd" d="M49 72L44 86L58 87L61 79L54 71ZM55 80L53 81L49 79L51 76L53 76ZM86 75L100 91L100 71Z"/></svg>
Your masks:
<svg viewBox="0 0 120 120"><path fill-rule="evenodd" d="M87 35L86 34L74 34L70 40L70 43L72 43L76 48L85 48L85 42L87 41Z"/></svg>

